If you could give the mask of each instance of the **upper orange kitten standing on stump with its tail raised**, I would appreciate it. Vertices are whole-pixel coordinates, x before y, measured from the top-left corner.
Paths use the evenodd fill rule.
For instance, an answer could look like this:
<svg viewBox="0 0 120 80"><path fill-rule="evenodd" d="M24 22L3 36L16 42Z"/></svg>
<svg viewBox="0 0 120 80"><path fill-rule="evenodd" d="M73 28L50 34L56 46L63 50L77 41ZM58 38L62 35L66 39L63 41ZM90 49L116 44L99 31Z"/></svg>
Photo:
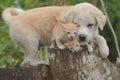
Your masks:
<svg viewBox="0 0 120 80"><path fill-rule="evenodd" d="M56 44L59 49L65 49L63 44L69 39L77 37L77 26L73 23L58 21L55 16L54 19L56 24L53 29L51 48Z"/></svg>

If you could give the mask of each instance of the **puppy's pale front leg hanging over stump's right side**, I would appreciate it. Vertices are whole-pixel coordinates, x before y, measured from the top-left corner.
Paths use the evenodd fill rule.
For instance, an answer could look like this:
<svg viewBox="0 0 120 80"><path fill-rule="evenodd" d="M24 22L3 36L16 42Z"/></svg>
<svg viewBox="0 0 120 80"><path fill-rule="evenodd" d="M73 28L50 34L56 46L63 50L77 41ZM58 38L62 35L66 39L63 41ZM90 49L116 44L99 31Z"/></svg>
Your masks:
<svg viewBox="0 0 120 80"><path fill-rule="evenodd" d="M103 36L101 36L99 34L97 34L95 36L95 40L96 40L97 45L99 47L101 56L103 58L106 58L109 55L109 48L108 48L106 40L104 39Z"/></svg>

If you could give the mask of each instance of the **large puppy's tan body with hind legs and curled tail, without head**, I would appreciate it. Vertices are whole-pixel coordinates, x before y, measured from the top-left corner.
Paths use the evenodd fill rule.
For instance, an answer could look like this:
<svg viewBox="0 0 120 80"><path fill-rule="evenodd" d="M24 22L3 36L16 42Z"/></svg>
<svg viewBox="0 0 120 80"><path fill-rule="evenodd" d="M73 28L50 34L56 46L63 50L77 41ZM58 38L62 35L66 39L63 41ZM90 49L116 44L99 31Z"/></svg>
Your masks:
<svg viewBox="0 0 120 80"><path fill-rule="evenodd" d="M53 16L66 9L68 7L43 7L22 12L21 9L8 8L3 11L2 18L9 26L10 37L24 50L23 65L44 64L44 61L36 59L38 51L42 46L51 45L56 24Z"/></svg>

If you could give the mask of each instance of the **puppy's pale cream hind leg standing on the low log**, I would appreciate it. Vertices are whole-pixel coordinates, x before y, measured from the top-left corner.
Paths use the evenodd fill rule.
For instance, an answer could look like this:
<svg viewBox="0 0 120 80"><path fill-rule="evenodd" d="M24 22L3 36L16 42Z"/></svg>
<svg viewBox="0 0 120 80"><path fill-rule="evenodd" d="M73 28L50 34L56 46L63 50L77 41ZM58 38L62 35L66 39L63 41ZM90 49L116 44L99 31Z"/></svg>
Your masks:
<svg viewBox="0 0 120 80"><path fill-rule="evenodd" d="M39 39L37 37L27 38L24 46L24 66L37 66L39 64L43 64L43 61L39 61L37 59L38 51L39 51Z"/></svg>

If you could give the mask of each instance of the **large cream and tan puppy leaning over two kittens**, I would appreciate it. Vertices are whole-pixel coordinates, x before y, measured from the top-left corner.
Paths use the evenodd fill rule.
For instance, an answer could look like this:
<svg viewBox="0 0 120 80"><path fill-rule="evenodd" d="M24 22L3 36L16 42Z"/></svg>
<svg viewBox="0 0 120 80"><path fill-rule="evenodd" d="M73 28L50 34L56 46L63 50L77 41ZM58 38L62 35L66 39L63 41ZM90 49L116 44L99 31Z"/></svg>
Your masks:
<svg viewBox="0 0 120 80"><path fill-rule="evenodd" d="M98 34L98 28L103 30L106 18L98 8L89 3L35 8L18 14L20 11L16 8L8 8L3 11L2 17L9 25L12 40L24 50L23 64L38 65L41 63L36 60L36 56L39 47L51 44L52 31L56 23L53 19L54 15L62 21L77 24L80 44L89 43L96 38L103 43L101 45L99 41L96 41L102 56L107 57L109 54L106 40Z"/></svg>

